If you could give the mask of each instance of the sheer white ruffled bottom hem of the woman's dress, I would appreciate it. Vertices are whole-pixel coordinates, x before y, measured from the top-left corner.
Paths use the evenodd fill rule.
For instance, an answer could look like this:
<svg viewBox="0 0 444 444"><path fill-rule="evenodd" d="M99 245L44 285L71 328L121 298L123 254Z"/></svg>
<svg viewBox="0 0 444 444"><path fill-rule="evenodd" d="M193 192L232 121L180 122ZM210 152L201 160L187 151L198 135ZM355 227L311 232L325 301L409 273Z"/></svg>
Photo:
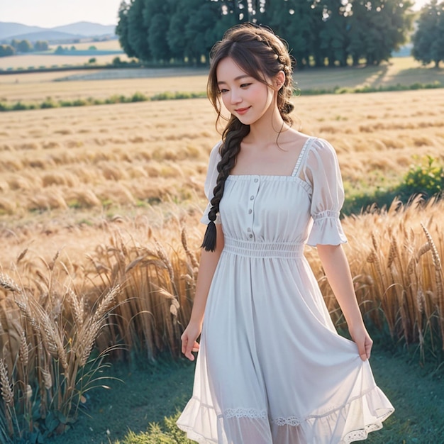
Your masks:
<svg viewBox="0 0 444 444"><path fill-rule="evenodd" d="M365 440L368 433L381 429L382 421L394 412L394 407L378 387L373 387L367 393L351 399L343 406L329 409L323 415L270 420L263 411L235 411L238 414L233 414L233 409L230 409L224 415L217 416L212 406L201 404L199 399L193 397L177 421L177 426L187 433L189 439L201 444L245 443L248 440L244 438L252 433L261 436L260 440L255 440L261 444L272 444L272 436L277 442L285 444L350 444ZM255 412L257 414L253 414ZM248 425L243 421L245 418L249 420ZM223 438L221 430L218 430L222 423L225 427L230 427L222 432ZM246 428L244 438L241 435L242 427ZM238 441L228 440L226 435L240 438Z"/></svg>

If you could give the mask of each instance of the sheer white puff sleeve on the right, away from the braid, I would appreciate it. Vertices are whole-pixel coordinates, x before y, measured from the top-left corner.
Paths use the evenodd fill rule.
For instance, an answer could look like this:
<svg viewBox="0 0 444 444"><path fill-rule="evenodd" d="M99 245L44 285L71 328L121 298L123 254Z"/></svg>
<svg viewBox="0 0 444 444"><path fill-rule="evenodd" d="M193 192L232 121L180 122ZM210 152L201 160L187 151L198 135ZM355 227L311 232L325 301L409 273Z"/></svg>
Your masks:
<svg viewBox="0 0 444 444"><path fill-rule="evenodd" d="M339 220L344 203L343 181L334 148L323 139L316 139L309 150L304 167L306 180L311 182L311 217L313 226L307 240L311 246L346 243Z"/></svg>

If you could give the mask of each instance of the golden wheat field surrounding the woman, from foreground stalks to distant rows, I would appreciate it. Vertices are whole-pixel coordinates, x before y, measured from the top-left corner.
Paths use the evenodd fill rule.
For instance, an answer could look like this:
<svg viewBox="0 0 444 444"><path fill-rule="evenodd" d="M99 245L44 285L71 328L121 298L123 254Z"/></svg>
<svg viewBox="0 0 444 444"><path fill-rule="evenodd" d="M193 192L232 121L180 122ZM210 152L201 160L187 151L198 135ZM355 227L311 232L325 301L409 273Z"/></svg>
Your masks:
<svg viewBox="0 0 444 444"><path fill-rule="evenodd" d="M150 91L199 91L203 79L62 88L100 95L133 82L132 93L145 82ZM50 87L19 82L8 94L30 100ZM435 90L301 94L294 104L294 126L333 143L349 189L384 187L426 155L444 161L444 96ZM93 350L111 348L121 359L179 355L206 165L220 137L214 120L204 99L0 113L0 438L22 436L14 415L25 418L33 402L43 417L75 416L96 377L87 370ZM443 213L443 201L394 202L343 221L366 321L418 348L421 359L444 344ZM316 249L306 255L342 326Z"/></svg>

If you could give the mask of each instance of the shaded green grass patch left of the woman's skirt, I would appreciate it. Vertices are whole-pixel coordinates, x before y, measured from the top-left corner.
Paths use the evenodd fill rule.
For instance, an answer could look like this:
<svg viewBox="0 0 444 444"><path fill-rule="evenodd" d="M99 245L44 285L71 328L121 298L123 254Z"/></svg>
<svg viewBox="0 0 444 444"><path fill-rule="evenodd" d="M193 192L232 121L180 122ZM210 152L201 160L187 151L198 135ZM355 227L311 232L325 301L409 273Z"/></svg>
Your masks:
<svg viewBox="0 0 444 444"><path fill-rule="evenodd" d="M157 365L130 368L114 364L110 389L98 388L87 399L85 414L51 444L109 444L123 440L128 431L146 431L150 423L181 411L192 394L194 365L160 360Z"/></svg>

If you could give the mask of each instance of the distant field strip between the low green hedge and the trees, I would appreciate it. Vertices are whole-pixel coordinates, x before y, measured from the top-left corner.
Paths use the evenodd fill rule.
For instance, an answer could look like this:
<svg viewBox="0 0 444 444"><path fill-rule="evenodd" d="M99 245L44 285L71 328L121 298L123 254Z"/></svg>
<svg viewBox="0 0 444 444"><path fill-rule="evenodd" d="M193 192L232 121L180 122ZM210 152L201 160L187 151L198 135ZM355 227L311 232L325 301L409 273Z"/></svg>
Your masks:
<svg viewBox="0 0 444 444"><path fill-rule="evenodd" d="M0 101L38 102L48 96L52 99L89 96L102 99L113 94L131 95L135 91L147 96L165 91L202 92L206 89L206 73L206 68L170 68L5 74L0 75ZM390 63L375 67L296 70L294 77L302 95L308 90L336 87L355 89L393 87L396 84L444 84L443 69L423 67L411 57L396 57ZM82 80L82 83L77 80Z"/></svg>

